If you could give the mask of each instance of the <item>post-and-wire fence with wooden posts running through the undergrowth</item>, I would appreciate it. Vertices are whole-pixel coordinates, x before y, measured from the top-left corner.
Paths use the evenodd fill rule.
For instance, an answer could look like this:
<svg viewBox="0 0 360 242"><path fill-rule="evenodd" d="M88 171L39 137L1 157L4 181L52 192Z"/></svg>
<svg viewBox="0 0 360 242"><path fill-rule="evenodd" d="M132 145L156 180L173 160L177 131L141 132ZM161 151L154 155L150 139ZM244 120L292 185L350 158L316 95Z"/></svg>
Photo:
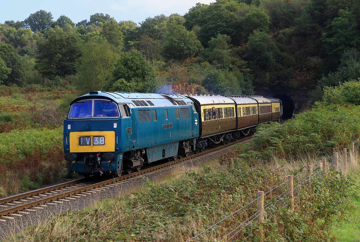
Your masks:
<svg viewBox="0 0 360 242"><path fill-rule="evenodd" d="M284 207L289 206L291 209L294 207L294 202L296 201L296 204L300 203L300 195L302 191L302 187L304 187L307 184L311 184L311 180L316 180L323 178L324 176L327 176L327 174L330 171L337 172L336 175L339 176L340 174L347 175L347 171L349 168L348 161L354 161L355 157L357 156L357 147L359 145L359 139L356 139L355 142L351 143L350 147L343 148L341 151L336 152L335 148L333 149L333 155L329 157L324 157L319 161L318 163L315 163L314 165L308 165L305 166L306 169L302 170L300 173L292 176L288 175L287 179L280 185L277 185L276 187L270 189L266 193L259 191L258 197L251 202L247 203L246 205L242 206L240 209L232 212L230 215L226 216L225 218L217 221L207 229L201 231L200 233L195 234L192 238L188 239L186 242L194 241L196 238L201 236L202 234L208 232L209 230L212 231L212 228L216 227L217 225L223 223L224 221L227 221L231 216L234 216L239 211L242 211L246 208L250 208L251 205L255 205L255 203L259 204L260 202L264 201L264 197L268 195L269 193L272 194L273 191L278 190L279 188L282 188L284 186L287 187L283 193L278 195L277 197L271 199L268 203L262 206L257 206L257 211L253 213L252 215L248 216L248 218L239 225L237 225L234 229L232 229L229 233L224 235L224 238L226 238L226 242L234 240L234 239L242 239L244 241L247 241L249 237L252 235L252 227L253 227L253 221L256 219L258 224L264 223L265 216L267 217L266 220L272 219L276 215L275 209L271 211L271 208L277 207L279 209L283 209ZM329 161L329 162L328 162ZM305 168L303 167L303 168ZM304 177L305 176L305 177ZM298 181L297 181L298 180ZM294 181L297 181L295 184ZM259 195L261 194L261 195ZM295 194L295 196L294 196ZM270 196L271 197L271 196ZM249 227L250 226L250 227ZM244 231L245 228L248 228L248 234L242 236L239 236L239 233L241 231ZM260 228L261 231L261 228ZM261 232L262 233L262 232ZM237 237L238 235L238 237ZM245 237L246 236L246 237ZM240 238L241 237L241 238Z"/></svg>

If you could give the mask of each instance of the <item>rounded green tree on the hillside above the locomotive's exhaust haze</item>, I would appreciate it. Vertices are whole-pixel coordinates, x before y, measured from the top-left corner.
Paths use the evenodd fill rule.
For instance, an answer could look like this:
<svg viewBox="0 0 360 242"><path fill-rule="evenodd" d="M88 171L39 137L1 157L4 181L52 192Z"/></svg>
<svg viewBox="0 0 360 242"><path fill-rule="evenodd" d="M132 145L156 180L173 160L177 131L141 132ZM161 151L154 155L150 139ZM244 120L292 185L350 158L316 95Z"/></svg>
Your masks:
<svg viewBox="0 0 360 242"><path fill-rule="evenodd" d="M168 26L162 55L168 59L184 60L199 53L201 43L192 31L177 24Z"/></svg>

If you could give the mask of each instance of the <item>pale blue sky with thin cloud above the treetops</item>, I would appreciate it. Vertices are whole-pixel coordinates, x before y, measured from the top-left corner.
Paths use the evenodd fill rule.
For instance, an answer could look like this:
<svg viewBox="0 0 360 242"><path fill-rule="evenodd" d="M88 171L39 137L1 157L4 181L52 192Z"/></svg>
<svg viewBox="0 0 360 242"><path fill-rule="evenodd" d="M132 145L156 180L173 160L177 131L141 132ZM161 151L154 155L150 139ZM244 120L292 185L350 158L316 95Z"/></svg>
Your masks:
<svg viewBox="0 0 360 242"><path fill-rule="evenodd" d="M215 0L1 0L0 23L6 20L23 21L39 10L51 12L56 21L60 15L69 17L77 23L89 21L94 13L109 14L117 22L131 20L141 23L147 17L172 13L184 15L196 3L209 4ZM138 24L139 25L139 24Z"/></svg>

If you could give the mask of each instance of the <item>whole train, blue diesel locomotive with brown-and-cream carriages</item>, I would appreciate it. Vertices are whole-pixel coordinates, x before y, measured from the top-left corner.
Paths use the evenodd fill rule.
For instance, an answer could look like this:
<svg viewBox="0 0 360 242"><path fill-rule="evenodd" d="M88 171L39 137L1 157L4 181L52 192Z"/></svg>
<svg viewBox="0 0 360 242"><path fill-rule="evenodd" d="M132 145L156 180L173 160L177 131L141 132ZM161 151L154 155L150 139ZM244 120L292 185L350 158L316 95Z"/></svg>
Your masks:
<svg viewBox="0 0 360 242"><path fill-rule="evenodd" d="M84 176L130 174L251 134L258 124L279 120L281 109L279 99L263 97L92 91L70 104L65 160Z"/></svg>

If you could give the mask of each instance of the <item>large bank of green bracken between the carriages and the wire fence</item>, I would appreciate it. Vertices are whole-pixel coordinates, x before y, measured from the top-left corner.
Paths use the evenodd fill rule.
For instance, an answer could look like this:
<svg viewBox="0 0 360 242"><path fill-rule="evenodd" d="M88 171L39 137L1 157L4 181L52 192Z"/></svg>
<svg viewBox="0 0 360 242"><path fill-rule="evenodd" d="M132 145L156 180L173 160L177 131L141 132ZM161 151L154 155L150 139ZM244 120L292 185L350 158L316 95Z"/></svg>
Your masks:
<svg viewBox="0 0 360 242"><path fill-rule="evenodd" d="M269 161L327 155L332 148L348 147L359 138L359 112L357 106L330 105L300 113L284 125L260 125L254 139L238 148L239 156Z"/></svg>

